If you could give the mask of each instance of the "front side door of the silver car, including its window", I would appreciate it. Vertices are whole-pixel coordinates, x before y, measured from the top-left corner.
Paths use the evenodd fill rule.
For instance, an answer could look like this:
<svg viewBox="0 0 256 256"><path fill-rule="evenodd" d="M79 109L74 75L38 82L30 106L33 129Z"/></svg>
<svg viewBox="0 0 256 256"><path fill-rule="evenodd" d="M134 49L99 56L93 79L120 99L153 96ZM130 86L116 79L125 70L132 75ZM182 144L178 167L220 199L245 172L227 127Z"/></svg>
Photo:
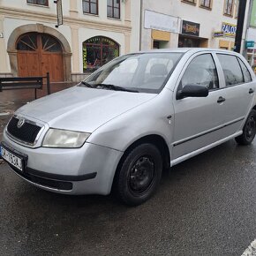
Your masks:
<svg viewBox="0 0 256 256"><path fill-rule="evenodd" d="M190 154L225 136L222 99L225 92L219 84L220 65L211 53L192 56L177 80L173 99L175 117L171 159ZM186 97L177 100L177 92L187 84L208 87L207 97Z"/></svg>

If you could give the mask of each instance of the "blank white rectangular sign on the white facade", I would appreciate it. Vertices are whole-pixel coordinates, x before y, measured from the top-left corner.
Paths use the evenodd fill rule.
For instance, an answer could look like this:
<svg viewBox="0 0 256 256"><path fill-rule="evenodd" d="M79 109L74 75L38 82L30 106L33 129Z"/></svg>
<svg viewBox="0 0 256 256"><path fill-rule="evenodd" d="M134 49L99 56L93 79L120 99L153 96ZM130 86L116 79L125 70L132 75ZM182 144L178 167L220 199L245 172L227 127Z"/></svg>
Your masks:
<svg viewBox="0 0 256 256"><path fill-rule="evenodd" d="M158 13L155 11L145 11L144 27L162 30L172 33L179 33L179 19L177 17Z"/></svg>

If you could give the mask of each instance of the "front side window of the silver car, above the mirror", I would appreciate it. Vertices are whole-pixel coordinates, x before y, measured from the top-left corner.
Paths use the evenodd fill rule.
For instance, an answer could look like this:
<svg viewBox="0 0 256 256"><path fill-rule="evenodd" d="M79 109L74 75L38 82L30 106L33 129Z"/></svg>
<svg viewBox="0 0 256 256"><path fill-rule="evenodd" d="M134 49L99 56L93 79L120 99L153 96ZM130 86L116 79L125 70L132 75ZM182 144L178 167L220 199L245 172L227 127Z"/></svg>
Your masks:
<svg viewBox="0 0 256 256"><path fill-rule="evenodd" d="M211 54L196 56L188 65L181 79L181 86L191 84L205 86L209 90L219 87L218 74Z"/></svg>

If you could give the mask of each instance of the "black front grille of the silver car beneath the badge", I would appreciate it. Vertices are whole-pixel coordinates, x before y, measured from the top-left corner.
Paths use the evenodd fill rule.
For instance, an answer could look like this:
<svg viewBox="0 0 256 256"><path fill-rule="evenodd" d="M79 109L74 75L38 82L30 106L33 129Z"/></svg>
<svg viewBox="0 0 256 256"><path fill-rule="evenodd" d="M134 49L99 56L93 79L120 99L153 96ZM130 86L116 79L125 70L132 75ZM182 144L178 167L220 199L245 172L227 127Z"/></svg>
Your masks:
<svg viewBox="0 0 256 256"><path fill-rule="evenodd" d="M20 128L18 128L18 122L19 119L17 117L12 117L11 121L7 126L7 131L11 134L11 136L16 139L19 139L29 144L34 144L36 136L41 130L41 127L25 121L25 123Z"/></svg>

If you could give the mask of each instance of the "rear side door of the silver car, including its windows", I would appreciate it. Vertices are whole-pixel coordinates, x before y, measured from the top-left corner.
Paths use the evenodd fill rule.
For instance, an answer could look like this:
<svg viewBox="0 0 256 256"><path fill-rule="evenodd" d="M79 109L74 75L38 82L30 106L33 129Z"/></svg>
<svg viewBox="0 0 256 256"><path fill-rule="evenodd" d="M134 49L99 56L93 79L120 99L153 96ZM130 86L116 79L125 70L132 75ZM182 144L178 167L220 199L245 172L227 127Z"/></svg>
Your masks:
<svg viewBox="0 0 256 256"><path fill-rule="evenodd" d="M225 124L228 133L234 134L242 128L247 114L252 109L255 82L239 56L226 53L216 54L223 72L220 80L225 91Z"/></svg>

